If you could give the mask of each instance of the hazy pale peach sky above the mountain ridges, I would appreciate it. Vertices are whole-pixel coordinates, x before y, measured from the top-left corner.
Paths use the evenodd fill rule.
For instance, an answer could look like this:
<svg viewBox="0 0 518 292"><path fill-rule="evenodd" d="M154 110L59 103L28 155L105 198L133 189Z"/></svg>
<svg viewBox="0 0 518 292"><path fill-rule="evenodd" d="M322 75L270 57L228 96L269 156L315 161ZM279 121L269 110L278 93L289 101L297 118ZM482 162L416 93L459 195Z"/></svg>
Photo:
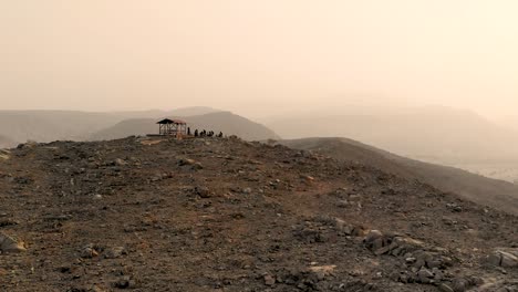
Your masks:
<svg viewBox="0 0 518 292"><path fill-rule="evenodd" d="M516 0L0 0L0 108L518 113Z"/></svg>

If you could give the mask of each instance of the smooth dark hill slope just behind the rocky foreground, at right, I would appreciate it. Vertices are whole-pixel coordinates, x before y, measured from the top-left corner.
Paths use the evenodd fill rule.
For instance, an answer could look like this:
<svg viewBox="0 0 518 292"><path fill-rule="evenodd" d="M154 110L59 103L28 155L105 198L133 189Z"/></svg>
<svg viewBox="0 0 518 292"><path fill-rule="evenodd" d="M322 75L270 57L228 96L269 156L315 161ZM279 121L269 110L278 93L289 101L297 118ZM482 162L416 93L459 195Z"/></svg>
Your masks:
<svg viewBox="0 0 518 292"><path fill-rule="evenodd" d="M410 180L419 180L474 202L518 215L518 186L462 169L401 157L345 138L305 138L280 142L297 149L317 150L333 158L371 165Z"/></svg>

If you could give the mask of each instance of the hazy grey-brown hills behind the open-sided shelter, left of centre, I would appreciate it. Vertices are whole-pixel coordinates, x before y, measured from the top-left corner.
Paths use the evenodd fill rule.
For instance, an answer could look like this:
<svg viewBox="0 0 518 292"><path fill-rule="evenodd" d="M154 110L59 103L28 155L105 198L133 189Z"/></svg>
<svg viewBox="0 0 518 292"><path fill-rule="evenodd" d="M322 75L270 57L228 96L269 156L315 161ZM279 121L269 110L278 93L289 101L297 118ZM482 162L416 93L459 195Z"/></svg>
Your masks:
<svg viewBox="0 0 518 292"><path fill-rule="evenodd" d="M152 109L106 113L0 111L0 147L14 147L27 140L87 140L156 133L156 121L166 116L178 116L185 119L190 119L189 117L193 116L193 128L222 131L226 134L242 135L244 138L278 137L270 129L247 118L230 113L221 115L217 113L225 112L206 106L185 107L174 111ZM201 118L201 116L205 117ZM142 124L138 125L138 123ZM121 132L117 134L116 131Z"/></svg>

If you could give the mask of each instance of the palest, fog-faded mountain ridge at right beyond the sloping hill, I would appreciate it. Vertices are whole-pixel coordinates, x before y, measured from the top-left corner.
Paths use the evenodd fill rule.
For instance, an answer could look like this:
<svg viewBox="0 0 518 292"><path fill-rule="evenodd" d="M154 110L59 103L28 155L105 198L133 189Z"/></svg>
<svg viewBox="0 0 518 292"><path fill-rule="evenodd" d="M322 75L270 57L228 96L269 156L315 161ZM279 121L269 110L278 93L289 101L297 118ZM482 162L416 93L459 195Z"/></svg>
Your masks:
<svg viewBox="0 0 518 292"><path fill-rule="evenodd" d="M518 160L518 134L481 116L444 106L355 107L266 123L284 138L350 137L406 157Z"/></svg>

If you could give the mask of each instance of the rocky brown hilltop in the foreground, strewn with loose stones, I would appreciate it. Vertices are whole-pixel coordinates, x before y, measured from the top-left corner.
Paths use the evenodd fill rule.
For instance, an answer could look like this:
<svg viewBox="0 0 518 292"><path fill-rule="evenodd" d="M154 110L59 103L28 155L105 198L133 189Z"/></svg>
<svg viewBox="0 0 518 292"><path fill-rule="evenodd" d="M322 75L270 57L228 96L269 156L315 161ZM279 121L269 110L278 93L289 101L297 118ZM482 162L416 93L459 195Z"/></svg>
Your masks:
<svg viewBox="0 0 518 292"><path fill-rule="evenodd" d="M0 291L518 291L518 218L238 138L0 153Z"/></svg>

